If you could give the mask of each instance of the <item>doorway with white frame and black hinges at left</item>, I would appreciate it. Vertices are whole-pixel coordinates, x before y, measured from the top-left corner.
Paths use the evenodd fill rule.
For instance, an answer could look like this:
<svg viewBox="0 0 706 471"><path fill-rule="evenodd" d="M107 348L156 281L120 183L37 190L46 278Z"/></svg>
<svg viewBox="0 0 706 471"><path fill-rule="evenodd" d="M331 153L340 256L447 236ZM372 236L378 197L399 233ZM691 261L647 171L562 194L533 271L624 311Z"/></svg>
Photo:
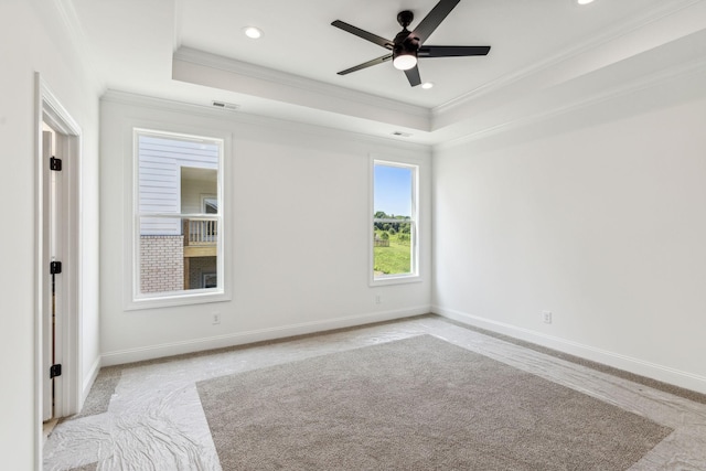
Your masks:
<svg viewBox="0 0 706 471"><path fill-rule="evenodd" d="M78 411L81 128L39 74L35 165L35 422Z"/></svg>

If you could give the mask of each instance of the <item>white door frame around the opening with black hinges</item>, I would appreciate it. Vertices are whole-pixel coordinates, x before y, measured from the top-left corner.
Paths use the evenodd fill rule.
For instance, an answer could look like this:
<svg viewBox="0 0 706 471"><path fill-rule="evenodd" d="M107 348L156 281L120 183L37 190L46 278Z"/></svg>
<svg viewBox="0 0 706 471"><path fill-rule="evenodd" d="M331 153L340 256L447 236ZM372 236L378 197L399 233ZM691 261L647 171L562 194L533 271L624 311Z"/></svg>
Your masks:
<svg viewBox="0 0 706 471"><path fill-rule="evenodd" d="M43 382L49 381L43 358L44 322L47 315L45 292L51 289L50 259L46 245L47 208L45 179L49 162L43 159L43 122L56 133L56 149L64 159L61 196L62 224L61 254L61 319L56 323L56 361L62 363L61 381L55 379L55 417L65 417L79 410L81 402L81 148L82 130L61 101L44 83L40 73L34 74L35 93L35 152L34 152L34 407L35 459L42 460ZM46 379L45 379L46 378ZM38 468L40 469L41 465Z"/></svg>

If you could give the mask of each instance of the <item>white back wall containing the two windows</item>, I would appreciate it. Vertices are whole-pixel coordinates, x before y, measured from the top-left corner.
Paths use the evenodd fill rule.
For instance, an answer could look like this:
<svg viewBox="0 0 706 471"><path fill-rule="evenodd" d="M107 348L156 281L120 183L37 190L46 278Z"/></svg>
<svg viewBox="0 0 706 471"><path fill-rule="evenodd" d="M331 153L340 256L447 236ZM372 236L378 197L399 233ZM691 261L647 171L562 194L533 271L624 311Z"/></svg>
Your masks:
<svg viewBox="0 0 706 471"><path fill-rule="evenodd" d="M232 136L223 204L231 228L231 301L124 309L131 126ZM104 364L428 312L428 272L422 282L368 286L371 153L421 163L421 261L428 271L428 148L203 107L170 110L157 100L109 94L101 101ZM216 311L221 324L212 325Z"/></svg>

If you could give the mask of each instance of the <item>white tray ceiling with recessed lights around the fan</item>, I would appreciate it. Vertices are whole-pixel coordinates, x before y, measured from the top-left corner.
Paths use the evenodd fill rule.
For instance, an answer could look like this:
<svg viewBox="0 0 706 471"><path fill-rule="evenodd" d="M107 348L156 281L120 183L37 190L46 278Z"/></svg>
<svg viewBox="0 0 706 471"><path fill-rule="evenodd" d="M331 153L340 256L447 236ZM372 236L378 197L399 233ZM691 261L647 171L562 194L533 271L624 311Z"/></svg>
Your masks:
<svg viewBox="0 0 706 471"><path fill-rule="evenodd" d="M488 56L422 58L430 90L386 53L331 26L393 39L437 0L71 0L66 18L107 89L438 143L566 107L706 56L704 0L461 0L426 44L491 45ZM264 31L254 41L243 28ZM612 79L610 78L612 77ZM567 105L569 104L569 105ZM539 110L543 108L543 111ZM224 111L226 113L226 111Z"/></svg>

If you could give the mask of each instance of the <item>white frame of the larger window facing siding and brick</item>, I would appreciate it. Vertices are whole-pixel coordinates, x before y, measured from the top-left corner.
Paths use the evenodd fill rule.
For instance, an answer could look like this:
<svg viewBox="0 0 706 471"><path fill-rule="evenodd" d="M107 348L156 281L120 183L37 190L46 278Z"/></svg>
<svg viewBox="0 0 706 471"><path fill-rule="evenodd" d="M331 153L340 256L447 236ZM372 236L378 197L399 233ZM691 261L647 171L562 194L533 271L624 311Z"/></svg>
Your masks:
<svg viewBox="0 0 706 471"><path fill-rule="evenodd" d="M218 224L218 238L216 244L216 276L218 279L217 288L207 289L191 289L169 292L157 293L141 293L140 292L140 217L150 216L151 214L140 214L139 212L139 136L157 136L162 138L174 138L192 141L206 141L210 143L218 144L218 165L217 165L217 194L218 200L218 214L189 214L190 216L207 216L214 217ZM169 130L161 130L154 128L133 127L131 132L132 141L132 157L131 157L131 214L128 215L128 231L130 240L130 269L128 270L130 276L130 295L126 302L126 310L139 310L139 309L152 309L161 307L174 307L174 306L189 306L207 302L221 302L231 300L231 292L227 289L227 276L226 269L226 250L225 240L227 240L228 221L225 216L225 190L223 182L225 181L225 154L229 150L229 142L222 137L212 137L207 135L194 135L186 132L175 132ZM167 216L167 215L163 215ZM173 216L172 216L173 217ZM183 217L180 214L178 217Z"/></svg>

